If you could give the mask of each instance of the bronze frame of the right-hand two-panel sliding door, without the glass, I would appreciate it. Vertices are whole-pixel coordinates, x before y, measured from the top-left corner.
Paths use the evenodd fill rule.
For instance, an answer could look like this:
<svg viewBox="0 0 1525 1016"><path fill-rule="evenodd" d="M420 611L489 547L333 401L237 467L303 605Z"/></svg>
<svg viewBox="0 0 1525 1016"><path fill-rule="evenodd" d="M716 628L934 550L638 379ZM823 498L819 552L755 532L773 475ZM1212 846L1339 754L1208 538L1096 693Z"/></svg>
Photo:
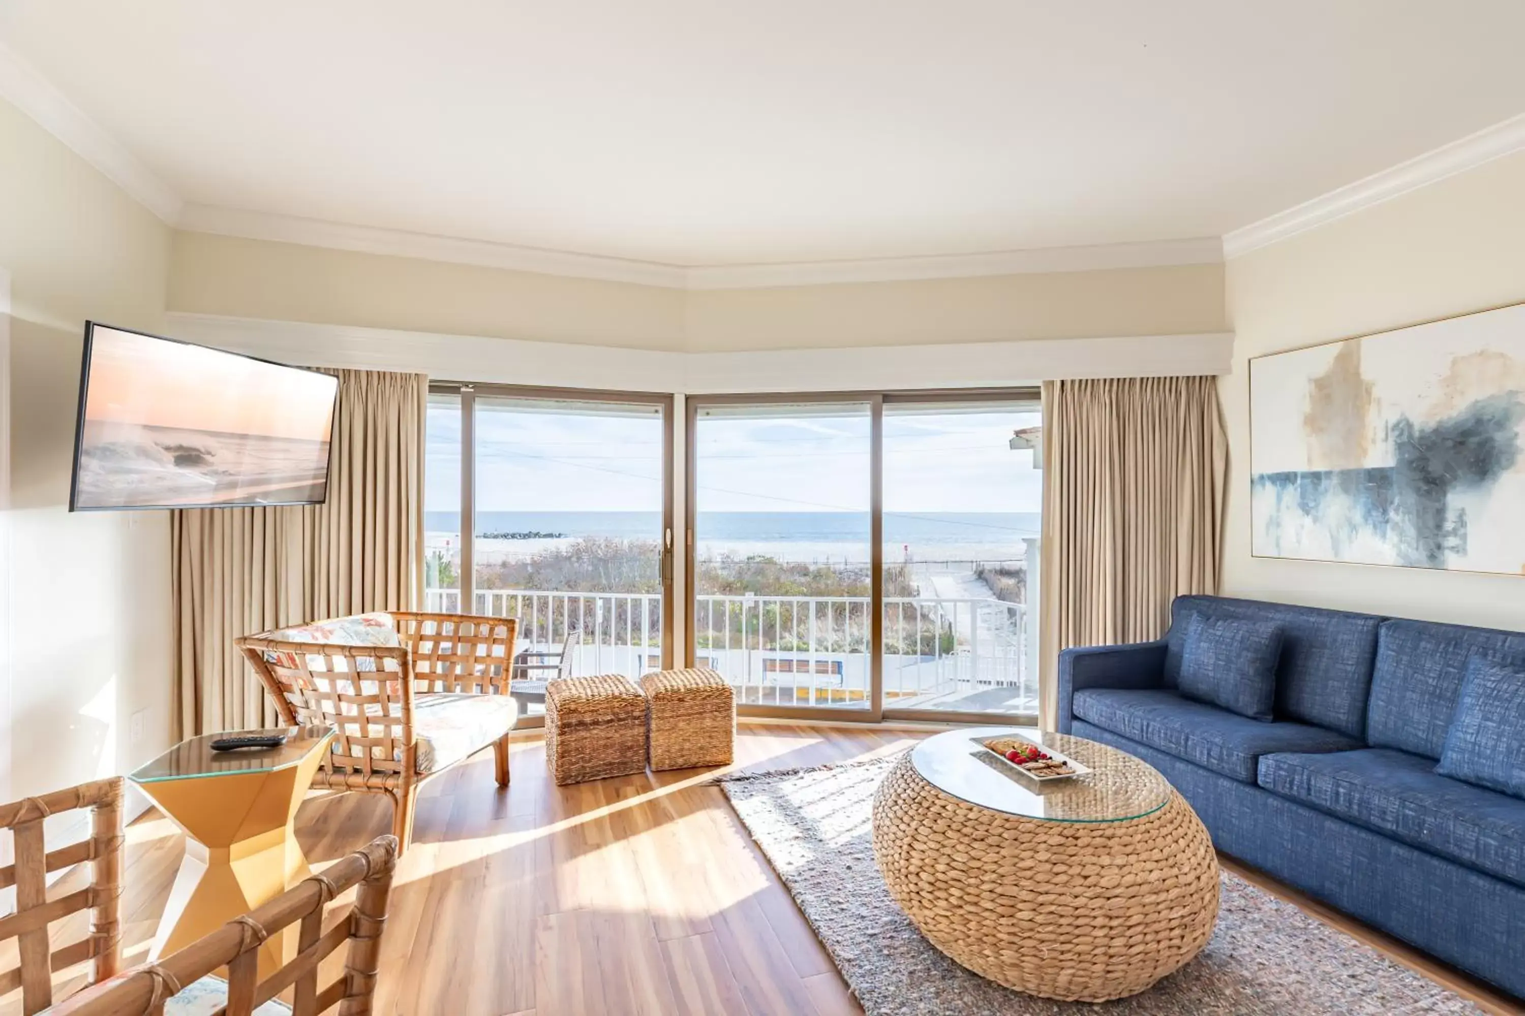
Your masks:
<svg viewBox="0 0 1525 1016"><path fill-rule="evenodd" d="M848 724L880 724L884 720L907 720L918 724L982 724L1013 727L1037 727L1037 713L999 714L964 713L955 710L884 708L884 407L924 402L1032 402L1042 407L1043 396L1035 385L1010 388L926 388L894 391L770 391L689 395L685 398L685 455L683 455L683 652L685 666L695 666L697 632L694 615L697 594L694 589L694 539L698 521L698 413L705 407L724 405L819 405L830 402L856 402L869 407L869 708L849 710L831 705L761 705L737 704L741 716L766 719L833 719ZM1045 484L1046 484L1045 475ZM1042 600L1037 602L1042 611ZM1037 631L1040 620L1034 620ZM1037 675L1042 699L1042 675Z"/></svg>

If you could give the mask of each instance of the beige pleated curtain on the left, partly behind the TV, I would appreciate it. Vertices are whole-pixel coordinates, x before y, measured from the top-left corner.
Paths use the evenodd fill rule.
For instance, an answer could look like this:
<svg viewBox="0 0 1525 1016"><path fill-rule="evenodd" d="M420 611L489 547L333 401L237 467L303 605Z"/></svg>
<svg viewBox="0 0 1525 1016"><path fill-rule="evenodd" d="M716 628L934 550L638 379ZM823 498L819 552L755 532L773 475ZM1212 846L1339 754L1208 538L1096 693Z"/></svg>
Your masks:
<svg viewBox="0 0 1525 1016"><path fill-rule="evenodd" d="M328 500L172 513L178 736L268 727L239 635L412 609L424 538L424 375L337 370Z"/></svg>

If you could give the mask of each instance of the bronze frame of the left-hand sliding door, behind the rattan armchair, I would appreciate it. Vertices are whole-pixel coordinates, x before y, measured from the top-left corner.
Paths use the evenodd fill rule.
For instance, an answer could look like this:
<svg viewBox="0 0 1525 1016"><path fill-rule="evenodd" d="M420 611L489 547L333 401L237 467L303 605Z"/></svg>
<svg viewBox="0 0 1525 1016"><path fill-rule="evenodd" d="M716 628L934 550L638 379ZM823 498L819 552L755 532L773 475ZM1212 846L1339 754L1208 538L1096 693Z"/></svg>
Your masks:
<svg viewBox="0 0 1525 1016"><path fill-rule="evenodd" d="M612 402L654 405L662 414L662 667L677 660L673 646L673 551L679 539L673 518L673 437L674 396L660 391L616 391L607 388L557 388L546 385L480 384L471 381L432 381L430 395L461 398L461 605L476 608L476 399L566 399L569 402ZM422 583L422 570L419 570ZM537 727L541 717L522 716L520 727Z"/></svg>

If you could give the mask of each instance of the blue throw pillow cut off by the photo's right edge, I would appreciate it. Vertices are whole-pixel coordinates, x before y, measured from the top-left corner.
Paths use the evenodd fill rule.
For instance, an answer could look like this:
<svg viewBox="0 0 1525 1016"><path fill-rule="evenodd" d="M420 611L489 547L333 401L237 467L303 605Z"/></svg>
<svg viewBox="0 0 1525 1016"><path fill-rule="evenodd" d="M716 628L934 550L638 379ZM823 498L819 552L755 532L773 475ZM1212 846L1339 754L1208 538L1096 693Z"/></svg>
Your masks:
<svg viewBox="0 0 1525 1016"><path fill-rule="evenodd" d="M1435 772L1525 797L1525 664L1473 653Z"/></svg>

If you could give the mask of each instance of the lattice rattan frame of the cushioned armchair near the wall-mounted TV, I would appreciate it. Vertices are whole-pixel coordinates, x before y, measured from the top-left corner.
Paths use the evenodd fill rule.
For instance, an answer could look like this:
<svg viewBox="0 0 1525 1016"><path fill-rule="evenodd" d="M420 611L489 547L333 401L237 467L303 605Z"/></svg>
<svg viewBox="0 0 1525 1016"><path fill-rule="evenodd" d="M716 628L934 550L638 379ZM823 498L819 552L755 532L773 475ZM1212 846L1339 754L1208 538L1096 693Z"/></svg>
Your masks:
<svg viewBox="0 0 1525 1016"><path fill-rule="evenodd" d="M386 794L401 853L413 839L419 786L448 768L418 771L416 696L453 692L506 698L518 621L418 611L390 611L390 615L401 646L267 637L274 632L238 638L235 644L259 675L284 724L337 731L313 788ZM331 621L314 621L326 623ZM509 731L512 727L511 720ZM509 778L508 737L503 733L493 740L499 786L508 786Z"/></svg>

